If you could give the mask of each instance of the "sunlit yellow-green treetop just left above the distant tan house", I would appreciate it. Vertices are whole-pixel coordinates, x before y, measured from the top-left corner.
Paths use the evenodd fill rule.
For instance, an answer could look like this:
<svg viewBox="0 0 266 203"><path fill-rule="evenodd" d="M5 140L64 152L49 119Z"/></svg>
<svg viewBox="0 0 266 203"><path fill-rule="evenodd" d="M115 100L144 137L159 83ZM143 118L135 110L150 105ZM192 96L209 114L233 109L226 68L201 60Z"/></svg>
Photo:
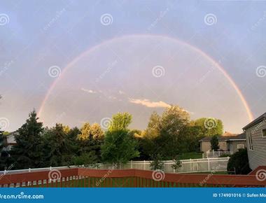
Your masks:
<svg viewBox="0 0 266 203"><path fill-rule="evenodd" d="M195 126L199 126L204 136L214 136L223 134L223 122L216 118L199 118L193 121Z"/></svg>

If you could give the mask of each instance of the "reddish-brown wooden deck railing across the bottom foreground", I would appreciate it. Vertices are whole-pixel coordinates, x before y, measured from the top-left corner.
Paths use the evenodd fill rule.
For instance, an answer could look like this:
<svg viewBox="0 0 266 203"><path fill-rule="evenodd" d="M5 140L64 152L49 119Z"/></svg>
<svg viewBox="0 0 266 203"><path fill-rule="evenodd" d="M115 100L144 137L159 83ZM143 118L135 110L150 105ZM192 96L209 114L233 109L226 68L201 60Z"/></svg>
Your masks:
<svg viewBox="0 0 266 203"><path fill-rule="evenodd" d="M54 174L52 174L54 173ZM255 175L165 174L139 169L62 169L6 174L1 187L265 187Z"/></svg>

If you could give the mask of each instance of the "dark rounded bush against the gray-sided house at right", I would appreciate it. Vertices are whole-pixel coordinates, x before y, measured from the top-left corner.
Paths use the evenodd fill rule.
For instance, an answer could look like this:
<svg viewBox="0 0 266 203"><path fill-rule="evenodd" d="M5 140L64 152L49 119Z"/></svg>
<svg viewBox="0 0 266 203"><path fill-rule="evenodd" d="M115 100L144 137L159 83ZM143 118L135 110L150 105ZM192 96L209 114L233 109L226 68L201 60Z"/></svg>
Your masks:
<svg viewBox="0 0 266 203"><path fill-rule="evenodd" d="M248 151L246 148L239 149L234 153L228 161L228 172L235 172L235 174L248 174L251 169L248 165Z"/></svg>

